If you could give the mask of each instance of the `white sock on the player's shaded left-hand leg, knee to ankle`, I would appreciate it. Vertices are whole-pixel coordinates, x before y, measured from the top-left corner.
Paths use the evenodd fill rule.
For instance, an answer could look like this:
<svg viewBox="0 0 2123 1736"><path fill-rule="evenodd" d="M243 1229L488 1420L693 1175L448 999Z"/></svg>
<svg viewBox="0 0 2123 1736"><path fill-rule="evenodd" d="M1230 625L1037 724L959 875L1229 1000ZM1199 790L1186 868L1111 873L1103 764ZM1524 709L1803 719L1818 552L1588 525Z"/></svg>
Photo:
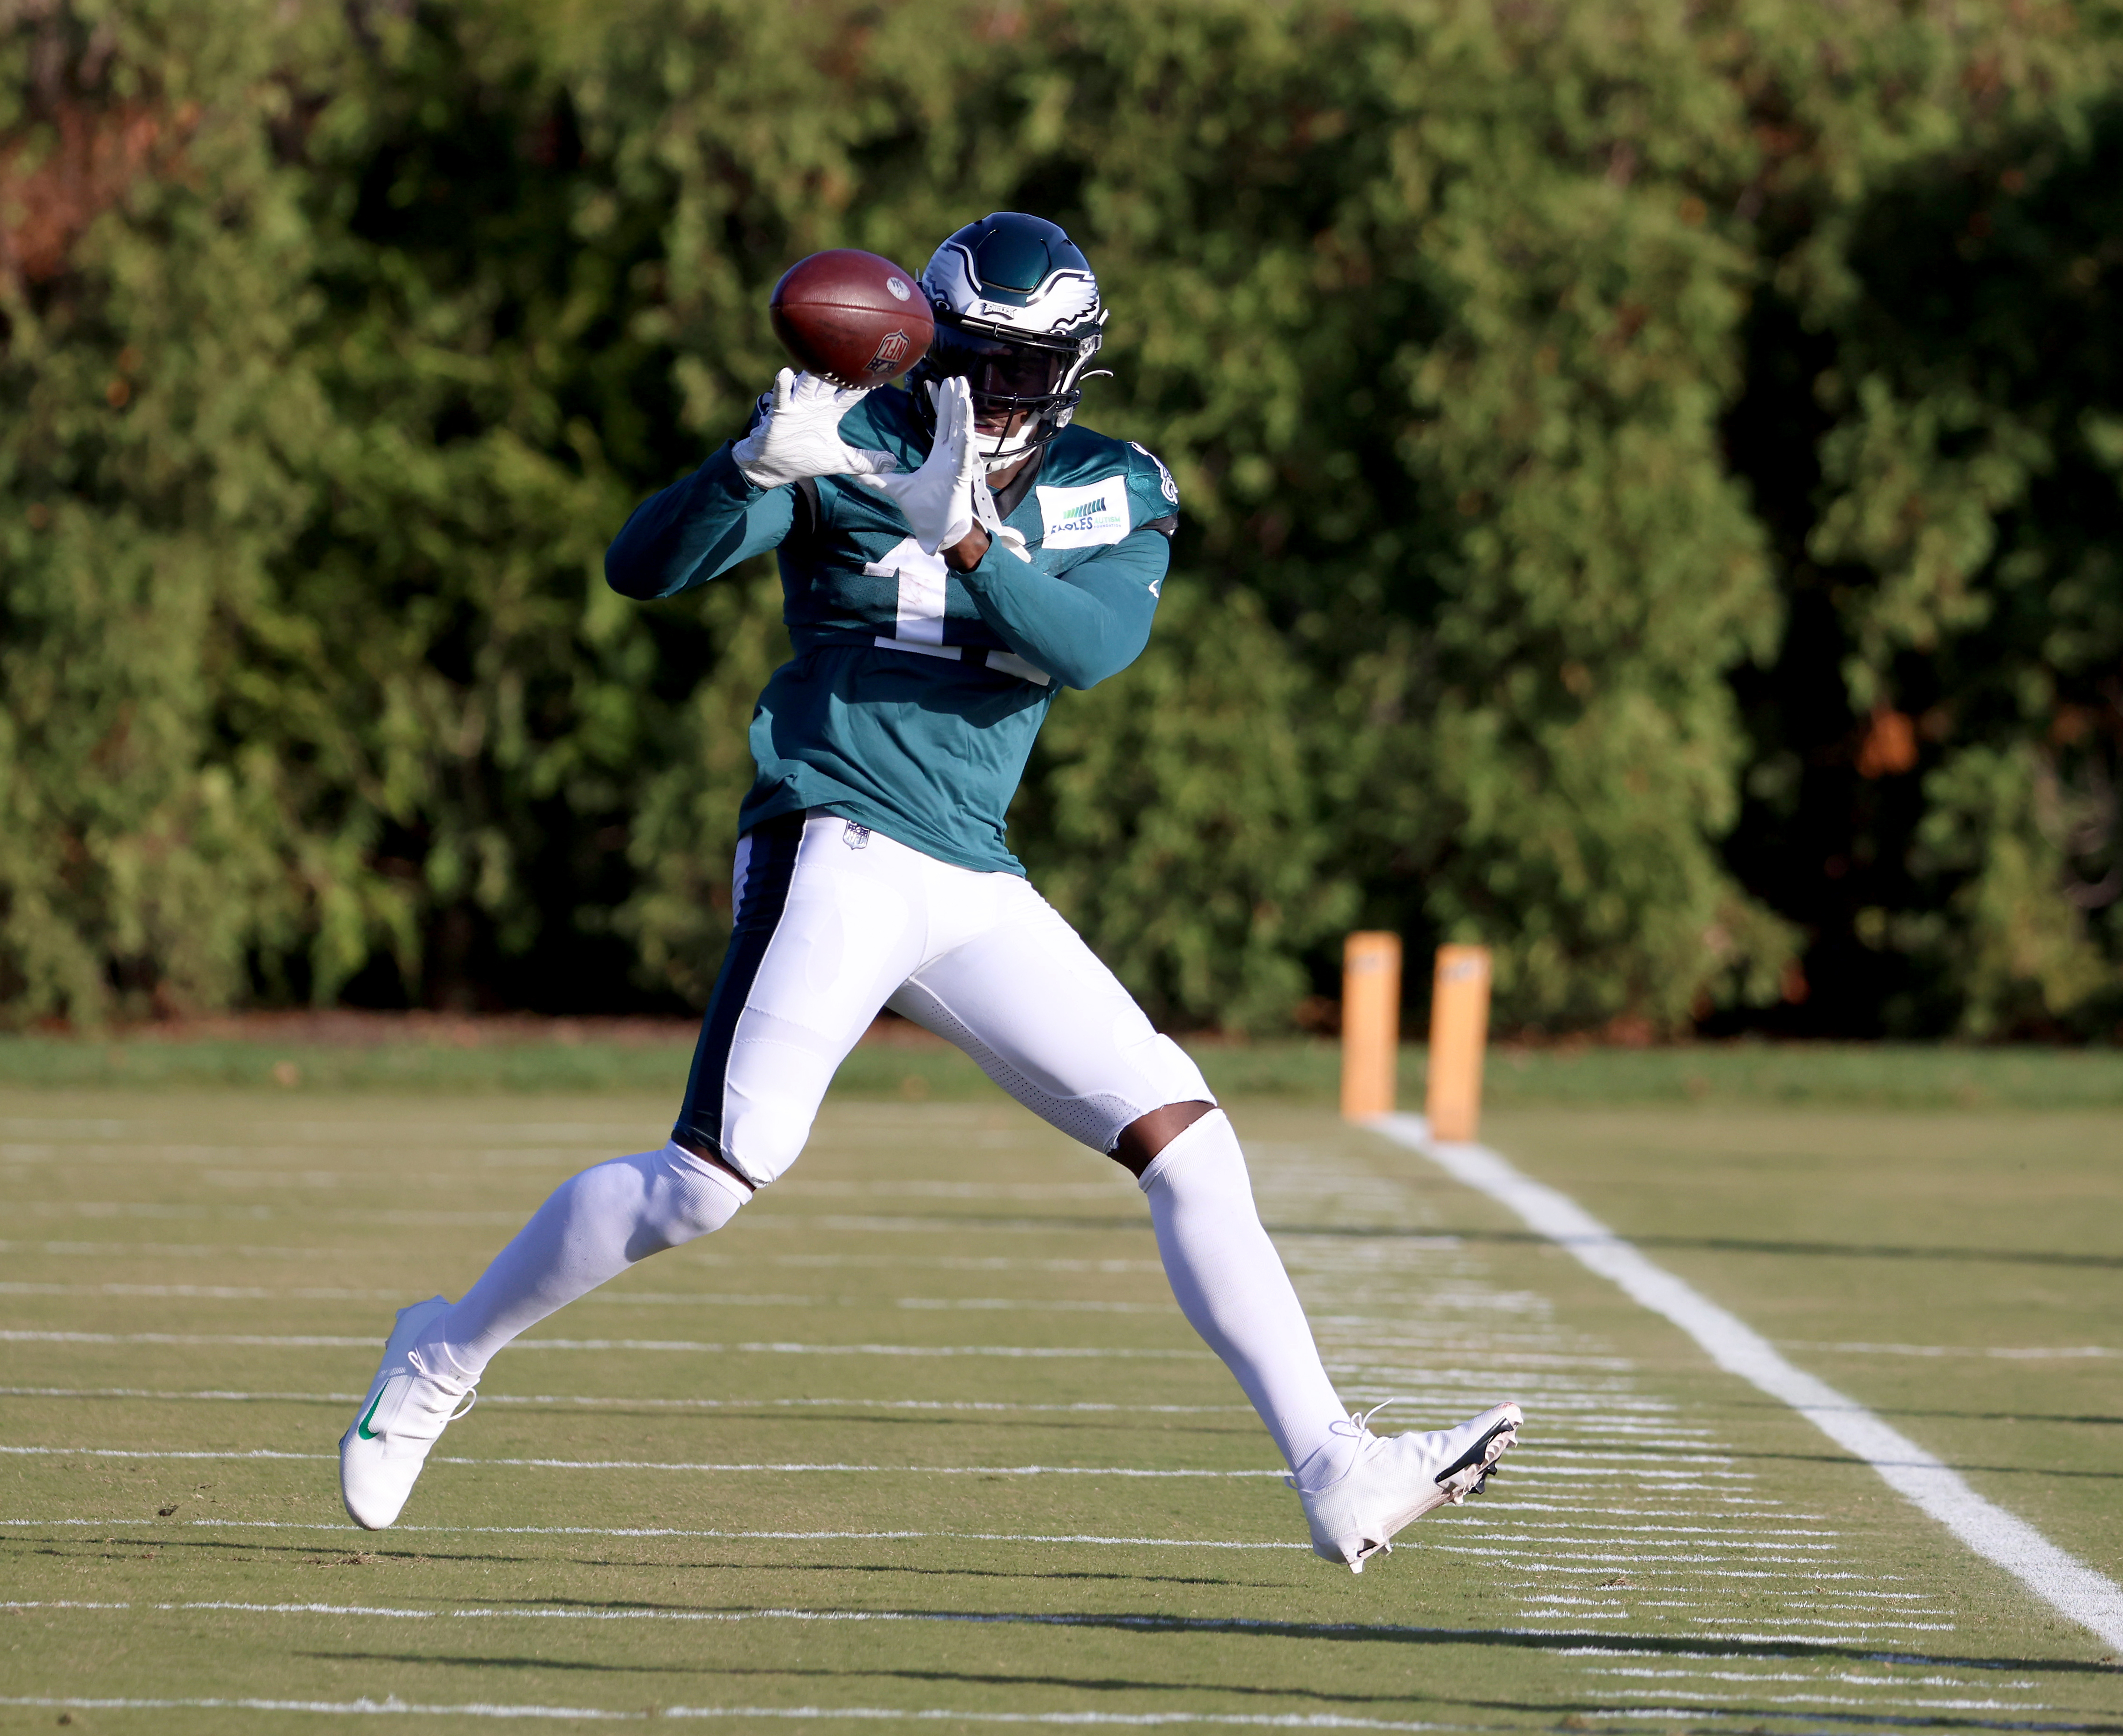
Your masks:
<svg viewBox="0 0 2123 1736"><path fill-rule="evenodd" d="M722 1229L752 1195L677 1142L584 1169L546 1199L465 1299L420 1333L420 1356L478 1379L501 1346L635 1261ZM433 1358L446 1360L435 1362Z"/></svg>

